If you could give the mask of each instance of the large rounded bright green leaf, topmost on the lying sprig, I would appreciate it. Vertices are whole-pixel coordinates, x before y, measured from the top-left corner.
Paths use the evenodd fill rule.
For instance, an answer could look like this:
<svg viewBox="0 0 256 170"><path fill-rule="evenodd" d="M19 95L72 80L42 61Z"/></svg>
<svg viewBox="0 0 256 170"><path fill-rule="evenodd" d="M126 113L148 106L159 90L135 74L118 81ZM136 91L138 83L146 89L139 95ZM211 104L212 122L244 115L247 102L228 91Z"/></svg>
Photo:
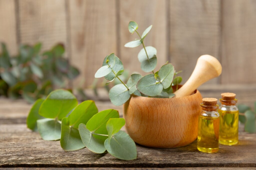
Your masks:
<svg viewBox="0 0 256 170"><path fill-rule="evenodd" d="M39 115L47 118L58 117L61 120L77 106L76 97L68 90L58 89L52 91L39 109Z"/></svg>

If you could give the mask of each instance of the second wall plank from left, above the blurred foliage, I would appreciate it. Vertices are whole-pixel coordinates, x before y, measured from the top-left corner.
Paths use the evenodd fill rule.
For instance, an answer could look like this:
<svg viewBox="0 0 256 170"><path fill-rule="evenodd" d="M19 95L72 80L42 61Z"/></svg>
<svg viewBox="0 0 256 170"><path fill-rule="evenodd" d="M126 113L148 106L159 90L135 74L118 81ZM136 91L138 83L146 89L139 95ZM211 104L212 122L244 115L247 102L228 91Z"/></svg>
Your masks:
<svg viewBox="0 0 256 170"><path fill-rule="evenodd" d="M24 0L18 3L21 43L42 42L42 50L57 43L67 45L65 1Z"/></svg>

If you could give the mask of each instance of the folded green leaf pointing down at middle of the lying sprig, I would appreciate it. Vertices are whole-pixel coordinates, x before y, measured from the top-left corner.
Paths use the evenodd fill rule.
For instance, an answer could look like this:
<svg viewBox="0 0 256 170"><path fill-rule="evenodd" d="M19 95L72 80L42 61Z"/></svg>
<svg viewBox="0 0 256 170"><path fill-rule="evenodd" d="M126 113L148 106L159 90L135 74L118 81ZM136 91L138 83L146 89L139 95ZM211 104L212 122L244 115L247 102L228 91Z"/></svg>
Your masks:
<svg viewBox="0 0 256 170"><path fill-rule="evenodd" d="M78 128L70 127L67 117L61 121L60 146L65 151L75 151L84 148Z"/></svg>

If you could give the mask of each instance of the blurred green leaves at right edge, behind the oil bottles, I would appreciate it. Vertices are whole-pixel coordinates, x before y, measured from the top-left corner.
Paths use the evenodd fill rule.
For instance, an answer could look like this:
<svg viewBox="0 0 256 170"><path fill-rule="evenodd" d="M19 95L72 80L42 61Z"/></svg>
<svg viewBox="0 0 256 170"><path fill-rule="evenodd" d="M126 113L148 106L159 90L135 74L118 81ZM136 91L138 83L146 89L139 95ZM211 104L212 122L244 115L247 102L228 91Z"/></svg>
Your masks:
<svg viewBox="0 0 256 170"><path fill-rule="evenodd" d="M244 131L256 133L256 102L254 110L245 104L238 105L239 121L244 124Z"/></svg>

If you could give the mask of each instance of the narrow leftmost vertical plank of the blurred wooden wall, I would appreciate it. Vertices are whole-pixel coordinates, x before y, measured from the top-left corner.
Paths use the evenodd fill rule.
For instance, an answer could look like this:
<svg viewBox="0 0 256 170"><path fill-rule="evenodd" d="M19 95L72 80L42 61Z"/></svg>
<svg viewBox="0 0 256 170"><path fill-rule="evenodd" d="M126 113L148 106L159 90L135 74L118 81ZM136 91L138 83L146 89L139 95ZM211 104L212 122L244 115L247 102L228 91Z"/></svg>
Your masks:
<svg viewBox="0 0 256 170"><path fill-rule="evenodd" d="M6 43L10 55L15 55L17 54L15 1L0 0L0 8L0 42Z"/></svg>

